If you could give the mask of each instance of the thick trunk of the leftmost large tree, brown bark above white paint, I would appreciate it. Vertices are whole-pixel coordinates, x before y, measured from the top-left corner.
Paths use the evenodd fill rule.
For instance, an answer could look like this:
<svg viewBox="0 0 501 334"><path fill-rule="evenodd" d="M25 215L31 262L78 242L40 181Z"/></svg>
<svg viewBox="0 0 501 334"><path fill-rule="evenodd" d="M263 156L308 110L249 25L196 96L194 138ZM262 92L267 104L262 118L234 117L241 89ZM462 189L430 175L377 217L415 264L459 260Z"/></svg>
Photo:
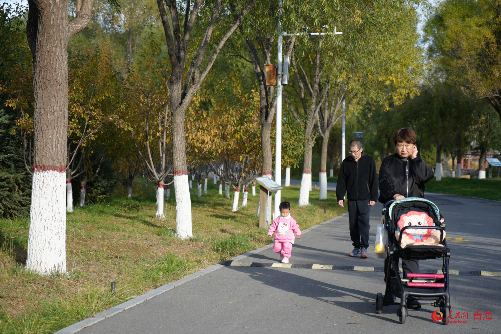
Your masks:
<svg viewBox="0 0 501 334"><path fill-rule="evenodd" d="M35 143L26 269L66 272L68 2L28 5Z"/></svg>

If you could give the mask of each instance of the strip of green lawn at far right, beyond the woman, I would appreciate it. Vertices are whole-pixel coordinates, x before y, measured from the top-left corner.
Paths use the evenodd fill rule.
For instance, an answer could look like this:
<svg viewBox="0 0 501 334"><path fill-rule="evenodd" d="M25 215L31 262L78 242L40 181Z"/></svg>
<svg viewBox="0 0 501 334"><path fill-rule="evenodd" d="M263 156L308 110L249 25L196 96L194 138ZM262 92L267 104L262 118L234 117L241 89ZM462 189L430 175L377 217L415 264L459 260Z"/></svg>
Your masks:
<svg viewBox="0 0 501 334"><path fill-rule="evenodd" d="M501 201L501 179L432 179L426 183L426 191Z"/></svg>

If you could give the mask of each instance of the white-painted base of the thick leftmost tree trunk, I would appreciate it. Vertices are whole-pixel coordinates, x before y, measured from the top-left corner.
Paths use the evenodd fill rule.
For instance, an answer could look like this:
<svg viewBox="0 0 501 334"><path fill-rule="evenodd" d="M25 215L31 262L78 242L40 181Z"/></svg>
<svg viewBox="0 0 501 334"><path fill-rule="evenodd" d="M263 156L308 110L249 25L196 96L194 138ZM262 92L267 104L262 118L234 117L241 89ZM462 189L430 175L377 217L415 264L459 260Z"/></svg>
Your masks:
<svg viewBox="0 0 501 334"><path fill-rule="evenodd" d="M34 169L26 269L66 272L66 172Z"/></svg>

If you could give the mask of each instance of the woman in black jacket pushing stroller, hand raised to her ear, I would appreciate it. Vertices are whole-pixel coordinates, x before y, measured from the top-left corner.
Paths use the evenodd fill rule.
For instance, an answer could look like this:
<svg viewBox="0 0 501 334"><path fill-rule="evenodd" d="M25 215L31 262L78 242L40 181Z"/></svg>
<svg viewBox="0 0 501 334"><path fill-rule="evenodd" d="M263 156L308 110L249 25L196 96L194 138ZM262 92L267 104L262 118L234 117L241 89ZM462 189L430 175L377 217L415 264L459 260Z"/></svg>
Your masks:
<svg viewBox="0 0 501 334"><path fill-rule="evenodd" d="M433 178L433 170L426 162L417 157L417 136L414 130L402 128L393 135L393 143L397 152L388 156L381 163L379 169L379 198L378 201L386 203L394 199L400 200L405 197L424 197L424 184ZM389 259L384 261L386 282L386 270ZM398 266L398 261L396 263ZM403 277L408 273L419 272L418 260L402 259ZM393 273L390 273L390 276ZM417 303L415 308L420 308Z"/></svg>

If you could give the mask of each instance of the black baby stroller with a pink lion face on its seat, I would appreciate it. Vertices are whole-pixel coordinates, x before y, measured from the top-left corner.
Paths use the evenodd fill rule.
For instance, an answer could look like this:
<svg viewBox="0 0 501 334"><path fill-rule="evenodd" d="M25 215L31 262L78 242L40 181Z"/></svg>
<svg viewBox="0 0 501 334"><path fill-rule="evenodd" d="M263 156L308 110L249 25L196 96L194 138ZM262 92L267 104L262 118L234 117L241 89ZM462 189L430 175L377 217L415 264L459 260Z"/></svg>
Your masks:
<svg viewBox="0 0 501 334"><path fill-rule="evenodd" d="M386 257L389 257L389 261L385 268L387 279L384 295L376 295L376 313L381 314L383 306L399 305L397 315L400 323L404 324L407 301L434 301L422 305L438 307L443 315L441 321L446 325L450 313L450 249L445 241L445 223L438 207L418 197L391 200L384 204L381 221L384 221L388 233ZM399 258L442 258L442 270L434 270L434 273L409 273L407 279L403 279L396 265ZM390 273L394 273L395 277L390 277ZM395 302L395 297L400 298L400 303Z"/></svg>

